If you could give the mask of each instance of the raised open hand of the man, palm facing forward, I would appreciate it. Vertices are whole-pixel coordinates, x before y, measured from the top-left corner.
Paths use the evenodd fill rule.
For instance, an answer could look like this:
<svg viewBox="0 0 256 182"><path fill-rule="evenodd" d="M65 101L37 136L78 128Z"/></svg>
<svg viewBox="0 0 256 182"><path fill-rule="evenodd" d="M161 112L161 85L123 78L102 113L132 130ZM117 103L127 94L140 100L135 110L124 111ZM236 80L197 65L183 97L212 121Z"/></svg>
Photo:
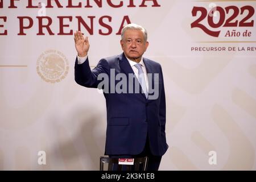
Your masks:
<svg viewBox="0 0 256 182"><path fill-rule="evenodd" d="M86 56L90 47L88 36L84 38L84 35L82 35L80 31L76 31L74 34L74 40L78 55L80 57Z"/></svg>

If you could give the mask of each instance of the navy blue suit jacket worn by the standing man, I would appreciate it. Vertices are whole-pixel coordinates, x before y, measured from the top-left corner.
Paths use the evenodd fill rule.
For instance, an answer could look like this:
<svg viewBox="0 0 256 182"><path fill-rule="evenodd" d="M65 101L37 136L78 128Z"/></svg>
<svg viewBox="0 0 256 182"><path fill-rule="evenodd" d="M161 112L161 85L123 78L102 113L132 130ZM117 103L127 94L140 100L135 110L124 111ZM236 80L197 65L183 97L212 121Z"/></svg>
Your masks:
<svg viewBox="0 0 256 182"><path fill-rule="evenodd" d="M143 61L147 73L153 73L152 79L154 73L159 74L159 96L155 100L147 100L144 93L104 93L107 111L105 155L137 155L143 151L147 134L153 155L162 156L167 151L166 97L162 68L155 61L146 58ZM115 75L125 73L128 77L129 73L134 74L122 53L101 59L92 70L88 59L82 64L77 64L76 60L75 81L88 88L97 88L101 82L97 80L97 76L100 73L110 76L110 69L115 69ZM154 85L150 86L154 88Z"/></svg>

